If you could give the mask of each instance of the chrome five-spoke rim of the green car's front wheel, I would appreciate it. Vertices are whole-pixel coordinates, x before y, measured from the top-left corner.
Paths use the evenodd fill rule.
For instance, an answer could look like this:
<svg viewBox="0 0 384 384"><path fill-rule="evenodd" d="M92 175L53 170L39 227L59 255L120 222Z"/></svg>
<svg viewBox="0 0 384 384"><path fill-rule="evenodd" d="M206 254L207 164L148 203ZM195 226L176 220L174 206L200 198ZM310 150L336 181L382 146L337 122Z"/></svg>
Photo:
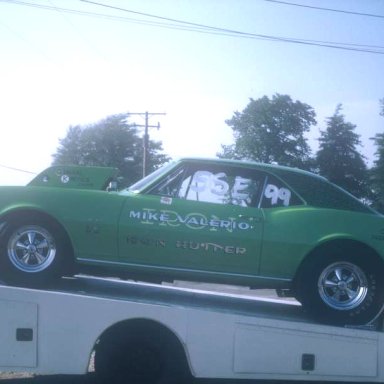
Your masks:
<svg viewBox="0 0 384 384"><path fill-rule="evenodd" d="M20 271L41 272L55 259L55 239L40 226L20 227L9 237L7 253L11 263Z"/></svg>

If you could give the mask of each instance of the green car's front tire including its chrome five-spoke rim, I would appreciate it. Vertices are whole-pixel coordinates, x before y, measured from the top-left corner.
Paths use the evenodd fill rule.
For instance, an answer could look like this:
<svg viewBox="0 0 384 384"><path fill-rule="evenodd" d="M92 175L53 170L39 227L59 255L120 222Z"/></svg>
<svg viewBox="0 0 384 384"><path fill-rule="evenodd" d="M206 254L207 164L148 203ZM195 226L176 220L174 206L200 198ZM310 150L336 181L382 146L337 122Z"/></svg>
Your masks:
<svg viewBox="0 0 384 384"><path fill-rule="evenodd" d="M66 242L63 231L42 219L11 221L0 243L0 274L6 283L41 285L62 276Z"/></svg>

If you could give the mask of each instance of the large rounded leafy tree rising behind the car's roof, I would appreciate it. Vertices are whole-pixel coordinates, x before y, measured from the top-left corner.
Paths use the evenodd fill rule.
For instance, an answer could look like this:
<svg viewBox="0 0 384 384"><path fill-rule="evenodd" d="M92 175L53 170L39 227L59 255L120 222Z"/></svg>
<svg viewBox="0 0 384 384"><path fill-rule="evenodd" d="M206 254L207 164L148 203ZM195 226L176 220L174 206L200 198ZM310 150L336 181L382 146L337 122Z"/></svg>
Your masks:
<svg viewBox="0 0 384 384"><path fill-rule="evenodd" d="M309 168L311 150L304 134L316 124L315 117L312 107L288 95L250 99L226 121L235 143L223 145L218 156Z"/></svg>

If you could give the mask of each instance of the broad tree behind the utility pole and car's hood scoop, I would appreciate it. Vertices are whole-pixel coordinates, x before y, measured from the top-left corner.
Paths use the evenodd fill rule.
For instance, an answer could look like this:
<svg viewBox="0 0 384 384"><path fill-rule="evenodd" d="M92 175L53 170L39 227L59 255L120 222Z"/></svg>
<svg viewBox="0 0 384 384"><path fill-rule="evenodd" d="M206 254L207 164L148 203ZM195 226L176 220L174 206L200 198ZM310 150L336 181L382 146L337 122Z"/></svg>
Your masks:
<svg viewBox="0 0 384 384"><path fill-rule="evenodd" d="M137 181L142 177L143 139L127 119L128 114L118 114L94 124L69 127L67 136L59 140L53 164L116 167L122 185ZM160 142L149 140L149 171L169 160L161 151Z"/></svg>

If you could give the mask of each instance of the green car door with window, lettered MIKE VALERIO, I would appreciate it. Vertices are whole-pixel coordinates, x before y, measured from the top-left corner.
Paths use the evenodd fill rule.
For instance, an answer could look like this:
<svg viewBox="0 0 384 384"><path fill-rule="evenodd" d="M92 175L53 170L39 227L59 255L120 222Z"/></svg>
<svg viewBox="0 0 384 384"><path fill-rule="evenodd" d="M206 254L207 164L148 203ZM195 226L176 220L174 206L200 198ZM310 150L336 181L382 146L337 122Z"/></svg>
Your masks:
<svg viewBox="0 0 384 384"><path fill-rule="evenodd" d="M146 193L127 200L120 219L120 260L257 275L264 178L253 169L182 164Z"/></svg>

